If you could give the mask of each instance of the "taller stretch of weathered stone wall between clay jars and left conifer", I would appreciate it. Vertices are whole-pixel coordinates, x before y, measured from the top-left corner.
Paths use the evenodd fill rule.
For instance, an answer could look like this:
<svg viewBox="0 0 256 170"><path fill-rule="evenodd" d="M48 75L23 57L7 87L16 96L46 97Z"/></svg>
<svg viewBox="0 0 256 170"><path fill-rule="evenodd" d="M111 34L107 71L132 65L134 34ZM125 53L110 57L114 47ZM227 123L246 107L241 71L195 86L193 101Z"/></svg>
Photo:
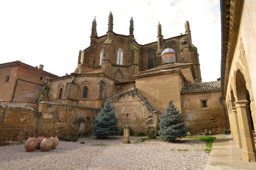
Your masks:
<svg viewBox="0 0 256 170"><path fill-rule="evenodd" d="M63 105L53 102L41 102L38 107L41 118L38 135L56 134L69 136L77 133L92 134L93 118L97 109L81 106Z"/></svg>

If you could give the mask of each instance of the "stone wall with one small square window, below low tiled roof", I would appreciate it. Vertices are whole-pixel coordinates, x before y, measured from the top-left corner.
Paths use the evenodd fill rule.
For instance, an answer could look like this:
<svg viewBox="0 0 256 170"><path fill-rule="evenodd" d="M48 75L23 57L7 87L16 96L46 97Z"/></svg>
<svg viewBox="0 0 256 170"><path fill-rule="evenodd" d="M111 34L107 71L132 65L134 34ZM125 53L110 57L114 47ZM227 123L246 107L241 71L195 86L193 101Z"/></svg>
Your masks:
<svg viewBox="0 0 256 170"><path fill-rule="evenodd" d="M221 91L194 92L181 96L181 113L191 134L200 134L205 129L211 130L212 133L226 131L227 117L223 113ZM201 100L207 100L206 108L202 107Z"/></svg>

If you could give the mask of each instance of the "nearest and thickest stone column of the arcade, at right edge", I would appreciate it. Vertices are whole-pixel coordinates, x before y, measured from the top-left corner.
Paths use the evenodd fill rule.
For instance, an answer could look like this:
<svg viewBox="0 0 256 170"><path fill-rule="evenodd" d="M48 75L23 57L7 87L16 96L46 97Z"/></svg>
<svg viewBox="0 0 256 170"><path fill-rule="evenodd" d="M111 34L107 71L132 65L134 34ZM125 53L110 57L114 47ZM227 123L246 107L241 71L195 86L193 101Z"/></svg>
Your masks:
<svg viewBox="0 0 256 170"><path fill-rule="evenodd" d="M241 140L243 145L244 161L255 162L256 150L251 128L251 120L248 110L248 101L236 101L237 115L239 128L241 133Z"/></svg>

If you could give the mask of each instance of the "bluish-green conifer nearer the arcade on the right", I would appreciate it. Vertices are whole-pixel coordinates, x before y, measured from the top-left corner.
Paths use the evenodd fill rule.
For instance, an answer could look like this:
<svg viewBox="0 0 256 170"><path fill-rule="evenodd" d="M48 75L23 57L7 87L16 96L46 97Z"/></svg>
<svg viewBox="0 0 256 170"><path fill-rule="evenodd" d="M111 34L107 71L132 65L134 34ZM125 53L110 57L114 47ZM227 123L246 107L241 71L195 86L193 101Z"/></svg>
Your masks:
<svg viewBox="0 0 256 170"><path fill-rule="evenodd" d="M186 136L186 128L182 120L182 115L174 106L173 101L168 102L168 106L159 117L159 135L167 141L174 141L177 138Z"/></svg>

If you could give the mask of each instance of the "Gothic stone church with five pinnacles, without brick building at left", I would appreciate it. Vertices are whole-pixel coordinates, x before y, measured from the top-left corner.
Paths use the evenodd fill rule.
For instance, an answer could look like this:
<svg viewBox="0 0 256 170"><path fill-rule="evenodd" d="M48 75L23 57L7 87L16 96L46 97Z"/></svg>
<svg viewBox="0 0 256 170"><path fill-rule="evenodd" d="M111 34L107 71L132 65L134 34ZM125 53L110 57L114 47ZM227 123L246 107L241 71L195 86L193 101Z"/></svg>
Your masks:
<svg viewBox="0 0 256 170"><path fill-rule="evenodd" d="M120 127L129 125L132 133L147 134L157 131L159 114L173 100L191 133L227 130L220 81L202 83L188 21L184 35L167 39L159 23L157 41L144 45L134 39L133 18L129 35L113 32L112 13L106 35L98 36L96 25L94 19L91 44L79 51L74 73L51 79L42 89L39 111L43 115L59 113L58 107L49 111L45 105L100 109L110 99Z"/></svg>

